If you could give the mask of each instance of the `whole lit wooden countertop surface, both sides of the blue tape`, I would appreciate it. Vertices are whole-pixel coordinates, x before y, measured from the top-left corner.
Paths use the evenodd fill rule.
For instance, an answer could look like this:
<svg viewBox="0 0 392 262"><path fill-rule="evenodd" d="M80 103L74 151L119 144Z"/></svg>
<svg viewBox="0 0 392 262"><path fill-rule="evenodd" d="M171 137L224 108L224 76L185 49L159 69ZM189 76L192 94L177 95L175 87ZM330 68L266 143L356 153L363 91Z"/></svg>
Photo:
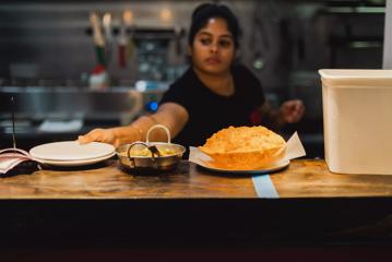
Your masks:
<svg viewBox="0 0 392 262"><path fill-rule="evenodd" d="M251 176L210 172L189 162L162 175L129 174L117 160L14 175L0 178L0 199L257 198ZM324 160L292 160L271 179L280 198L392 195L392 176L332 174Z"/></svg>

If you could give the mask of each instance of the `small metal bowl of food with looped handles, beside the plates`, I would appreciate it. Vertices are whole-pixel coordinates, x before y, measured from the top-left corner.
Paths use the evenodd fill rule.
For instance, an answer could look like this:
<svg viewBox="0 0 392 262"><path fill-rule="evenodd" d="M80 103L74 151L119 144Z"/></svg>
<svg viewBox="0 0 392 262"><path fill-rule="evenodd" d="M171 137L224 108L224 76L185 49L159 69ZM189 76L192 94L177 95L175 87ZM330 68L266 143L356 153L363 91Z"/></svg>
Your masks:
<svg viewBox="0 0 392 262"><path fill-rule="evenodd" d="M150 142L150 134L155 129L163 129L167 142ZM186 148L170 143L170 132L163 124L155 124L149 129L146 142L133 142L117 147L116 153L121 165L129 170L136 171L167 171L175 169L182 158Z"/></svg>

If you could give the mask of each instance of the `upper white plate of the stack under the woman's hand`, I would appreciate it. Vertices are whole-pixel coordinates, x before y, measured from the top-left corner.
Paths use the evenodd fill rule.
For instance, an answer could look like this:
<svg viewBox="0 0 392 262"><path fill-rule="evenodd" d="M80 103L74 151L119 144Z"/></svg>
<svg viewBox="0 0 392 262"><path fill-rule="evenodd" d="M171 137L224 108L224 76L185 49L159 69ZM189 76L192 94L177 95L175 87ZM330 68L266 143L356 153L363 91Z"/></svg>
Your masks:
<svg viewBox="0 0 392 262"><path fill-rule="evenodd" d="M63 141L41 144L33 147L29 154L34 158L55 162L80 162L112 155L115 146L106 143L92 142L80 144L78 141Z"/></svg>

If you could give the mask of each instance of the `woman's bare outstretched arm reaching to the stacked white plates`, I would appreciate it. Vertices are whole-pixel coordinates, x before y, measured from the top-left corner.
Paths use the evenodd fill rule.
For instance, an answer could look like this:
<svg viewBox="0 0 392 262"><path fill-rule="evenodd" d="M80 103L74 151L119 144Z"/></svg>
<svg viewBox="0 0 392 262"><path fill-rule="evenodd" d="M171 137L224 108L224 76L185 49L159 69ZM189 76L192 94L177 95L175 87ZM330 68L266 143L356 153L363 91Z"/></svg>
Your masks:
<svg viewBox="0 0 392 262"><path fill-rule="evenodd" d="M111 129L94 129L85 135L79 136L79 142L84 144L93 141L104 142L119 146L134 141L145 141L147 130L154 124L164 124L176 136L188 122L188 111L179 104L164 103L152 115L145 115L129 126ZM166 141L166 133L156 130L151 133L152 141Z"/></svg>

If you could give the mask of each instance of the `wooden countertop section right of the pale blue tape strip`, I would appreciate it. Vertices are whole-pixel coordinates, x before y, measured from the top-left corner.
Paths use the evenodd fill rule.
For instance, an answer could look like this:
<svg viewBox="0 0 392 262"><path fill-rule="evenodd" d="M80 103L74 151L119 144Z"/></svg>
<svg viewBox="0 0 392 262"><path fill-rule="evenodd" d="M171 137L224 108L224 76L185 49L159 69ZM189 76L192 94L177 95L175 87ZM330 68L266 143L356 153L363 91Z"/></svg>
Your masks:
<svg viewBox="0 0 392 262"><path fill-rule="evenodd" d="M293 160L271 177L281 198L392 195L392 176L333 174L324 160Z"/></svg>

